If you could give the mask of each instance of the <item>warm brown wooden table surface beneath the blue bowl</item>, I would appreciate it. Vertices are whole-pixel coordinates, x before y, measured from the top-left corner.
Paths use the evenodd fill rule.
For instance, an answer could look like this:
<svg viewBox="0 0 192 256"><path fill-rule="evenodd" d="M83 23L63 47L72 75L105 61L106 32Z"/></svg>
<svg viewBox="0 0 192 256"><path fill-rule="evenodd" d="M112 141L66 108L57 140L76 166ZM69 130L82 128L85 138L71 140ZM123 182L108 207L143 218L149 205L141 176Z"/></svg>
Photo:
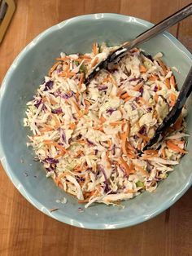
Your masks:
<svg viewBox="0 0 192 256"><path fill-rule="evenodd" d="M190 0L20 0L0 46L0 83L38 33L75 15L116 12L157 23ZM170 29L192 51L192 18ZM0 255L192 255L192 189L170 209L135 227L91 231L47 217L24 199L0 168Z"/></svg>

